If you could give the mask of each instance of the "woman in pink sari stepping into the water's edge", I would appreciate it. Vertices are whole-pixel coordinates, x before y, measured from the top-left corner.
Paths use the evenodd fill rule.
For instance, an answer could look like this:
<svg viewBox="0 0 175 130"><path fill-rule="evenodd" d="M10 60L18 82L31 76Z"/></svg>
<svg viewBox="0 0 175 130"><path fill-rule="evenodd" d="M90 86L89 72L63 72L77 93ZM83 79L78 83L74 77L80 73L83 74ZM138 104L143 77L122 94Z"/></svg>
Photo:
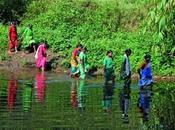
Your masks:
<svg viewBox="0 0 175 130"><path fill-rule="evenodd" d="M46 50L47 50L47 43L42 42L35 54L35 59L36 59L36 67L41 69L42 71L45 70L46 68Z"/></svg>

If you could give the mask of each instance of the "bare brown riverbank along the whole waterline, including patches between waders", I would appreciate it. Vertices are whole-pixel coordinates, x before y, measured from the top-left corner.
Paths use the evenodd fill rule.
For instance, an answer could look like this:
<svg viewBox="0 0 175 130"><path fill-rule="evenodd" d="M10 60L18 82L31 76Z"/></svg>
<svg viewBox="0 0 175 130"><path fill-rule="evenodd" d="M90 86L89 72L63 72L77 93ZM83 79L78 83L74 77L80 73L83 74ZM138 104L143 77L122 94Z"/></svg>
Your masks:
<svg viewBox="0 0 175 130"><path fill-rule="evenodd" d="M59 54L52 53L51 51L47 52L48 54L48 71L54 73L67 73L68 69L61 67L61 63L64 60ZM0 62L0 71L2 72L11 72L11 73L21 73L23 72L33 72L37 71L35 67L35 58L34 53L25 54L24 52L17 52L12 54L7 54L7 59ZM97 69L91 73L93 76L102 76L102 69ZM117 76L119 77L119 76ZM118 79L118 78L117 78ZM137 81L139 79L138 74L134 73L132 75L132 80ZM154 80L157 81L175 81L175 76L154 76Z"/></svg>

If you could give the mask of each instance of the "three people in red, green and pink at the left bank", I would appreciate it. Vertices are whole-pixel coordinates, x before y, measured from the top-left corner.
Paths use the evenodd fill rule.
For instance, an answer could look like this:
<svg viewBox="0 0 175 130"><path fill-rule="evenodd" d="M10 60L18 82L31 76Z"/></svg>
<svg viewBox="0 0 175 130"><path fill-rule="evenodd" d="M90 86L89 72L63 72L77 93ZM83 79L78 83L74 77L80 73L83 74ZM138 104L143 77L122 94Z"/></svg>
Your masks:
<svg viewBox="0 0 175 130"><path fill-rule="evenodd" d="M46 50L48 44L46 41L42 41L39 45L36 44L33 38L32 25L29 24L22 34L22 45L25 53L35 52L36 67L44 71L46 69ZM9 53L18 52L19 40L16 22L11 22L9 28Z"/></svg>

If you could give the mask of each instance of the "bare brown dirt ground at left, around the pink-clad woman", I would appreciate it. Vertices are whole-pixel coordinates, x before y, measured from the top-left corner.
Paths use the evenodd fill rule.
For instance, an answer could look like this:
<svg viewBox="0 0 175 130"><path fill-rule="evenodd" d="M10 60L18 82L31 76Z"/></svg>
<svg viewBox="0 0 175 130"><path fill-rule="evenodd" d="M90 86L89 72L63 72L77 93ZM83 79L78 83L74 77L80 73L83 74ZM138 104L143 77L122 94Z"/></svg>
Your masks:
<svg viewBox="0 0 175 130"><path fill-rule="evenodd" d="M0 70L4 71L22 71L22 70L31 70L36 69L35 67L35 53L26 54L22 51L17 53L7 54L7 59L0 62ZM58 54L54 54L50 51L47 52L47 62L49 63L50 68L55 71L61 71L58 63L60 58ZM53 66L54 64L54 66Z"/></svg>

